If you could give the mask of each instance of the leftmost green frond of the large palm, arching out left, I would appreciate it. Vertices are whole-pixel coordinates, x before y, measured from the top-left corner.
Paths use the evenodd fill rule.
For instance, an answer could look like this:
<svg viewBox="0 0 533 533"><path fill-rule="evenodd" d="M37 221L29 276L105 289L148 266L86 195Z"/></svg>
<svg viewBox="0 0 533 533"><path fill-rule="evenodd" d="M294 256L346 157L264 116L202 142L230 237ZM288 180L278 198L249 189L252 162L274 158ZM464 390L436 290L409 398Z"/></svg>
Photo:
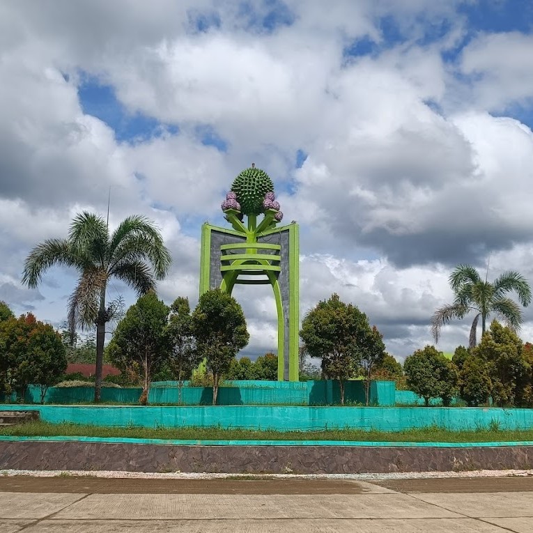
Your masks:
<svg viewBox="0 0 533 533"><path fill-rule="evenodd" d="M24 261L22 283L35 288L45 271L53 265L74 266L80 269L84 264L85 258L72 250L68 240L48 239L33 248Z"/></svg>

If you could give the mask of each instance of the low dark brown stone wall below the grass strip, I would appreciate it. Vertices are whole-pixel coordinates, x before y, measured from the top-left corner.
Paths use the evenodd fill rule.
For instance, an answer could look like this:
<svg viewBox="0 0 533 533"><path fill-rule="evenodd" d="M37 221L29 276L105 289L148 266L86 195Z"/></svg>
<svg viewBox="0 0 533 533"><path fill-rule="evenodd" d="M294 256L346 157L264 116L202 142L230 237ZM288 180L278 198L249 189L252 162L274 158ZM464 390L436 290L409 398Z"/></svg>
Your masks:
<svg viewBox="0 0 533 533"><path fill-rule="evenodd" d="M171 446L0 442L0 470L357 474L533 468L533 447Z"/></svg>

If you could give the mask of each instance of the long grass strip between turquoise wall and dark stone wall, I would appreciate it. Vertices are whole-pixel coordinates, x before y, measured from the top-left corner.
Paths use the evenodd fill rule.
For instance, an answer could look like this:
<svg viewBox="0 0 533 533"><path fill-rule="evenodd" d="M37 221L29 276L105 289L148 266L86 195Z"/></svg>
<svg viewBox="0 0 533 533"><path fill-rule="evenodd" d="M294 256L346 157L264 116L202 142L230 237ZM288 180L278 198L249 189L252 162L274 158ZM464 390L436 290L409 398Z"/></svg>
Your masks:
<svg viewBox="0 0 533 533"><path fill-rule="evenodd" d="M388 442L509 442L533 441L533 429L507 431L493 425L475 431L449 431L438 427L405 431L364 431L331 429L327 431L255 431L224 428L143 428L84 426L28 422L16 426L0 426L0 435L116 437L172 440L348 440Z"/></svg>

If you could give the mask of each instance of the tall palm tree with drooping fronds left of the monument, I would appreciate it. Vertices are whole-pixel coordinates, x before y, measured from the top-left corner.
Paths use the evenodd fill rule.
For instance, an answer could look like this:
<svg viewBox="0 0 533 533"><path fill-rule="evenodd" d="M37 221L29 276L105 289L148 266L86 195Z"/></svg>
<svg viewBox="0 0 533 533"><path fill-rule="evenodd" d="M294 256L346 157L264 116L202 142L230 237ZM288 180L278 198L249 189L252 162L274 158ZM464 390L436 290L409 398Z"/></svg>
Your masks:
<svg viewBox="0 0 533 533"><path fill-rule="evenodd" d="M105 219L92 213L77 215L68 238L48 239L37 245L24 263L22 283L38 286L52 265L74 267L79 273L69 301L71 338L75 328L96 325L95 401L100 401L105 325L114 318L116 306L106 307L106 289L111 278L120 279L143 295L155 290L155 280L167 274L169 250L153 222L139 215L127 217L109 234Z"/></svg>

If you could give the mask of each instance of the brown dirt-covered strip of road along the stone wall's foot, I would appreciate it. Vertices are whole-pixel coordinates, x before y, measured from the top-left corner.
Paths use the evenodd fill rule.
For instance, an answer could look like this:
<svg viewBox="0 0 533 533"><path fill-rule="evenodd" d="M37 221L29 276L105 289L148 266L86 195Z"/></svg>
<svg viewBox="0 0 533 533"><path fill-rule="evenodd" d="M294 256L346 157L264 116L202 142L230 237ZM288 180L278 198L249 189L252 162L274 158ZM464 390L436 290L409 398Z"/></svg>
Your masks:
<svg viewBox="0 0 533 533"><path fill-rule="evenodd" d="M395 479L372 481L400 493L532 492L533 477ZM0 477L0 492L91 494L364 494L364 485L341 479L105 479Z"/></svg>

